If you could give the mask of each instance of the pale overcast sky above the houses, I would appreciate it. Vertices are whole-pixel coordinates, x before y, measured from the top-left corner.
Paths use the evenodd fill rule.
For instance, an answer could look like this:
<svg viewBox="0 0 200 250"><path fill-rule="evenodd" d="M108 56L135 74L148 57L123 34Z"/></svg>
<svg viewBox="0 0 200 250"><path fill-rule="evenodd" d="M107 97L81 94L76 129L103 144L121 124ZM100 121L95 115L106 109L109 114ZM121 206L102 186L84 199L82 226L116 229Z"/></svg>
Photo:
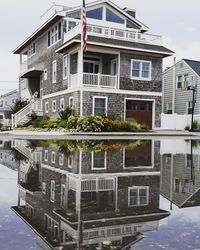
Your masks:
<svg viewBox="0 0 200 250"><path fill-rule="evenodd" d="M82 0L55 0L67 6ZM90 2L86 0L86 3ZM120 7L136 9L136 17L149 33L163 35L164 45L175 52L177 60L200 60L199 0L113 0ZM0 0L0 94L17 88L19 55L12 51L38 27L39 19L51 0ZM172 58L165 61L171 66Z"/></svg>

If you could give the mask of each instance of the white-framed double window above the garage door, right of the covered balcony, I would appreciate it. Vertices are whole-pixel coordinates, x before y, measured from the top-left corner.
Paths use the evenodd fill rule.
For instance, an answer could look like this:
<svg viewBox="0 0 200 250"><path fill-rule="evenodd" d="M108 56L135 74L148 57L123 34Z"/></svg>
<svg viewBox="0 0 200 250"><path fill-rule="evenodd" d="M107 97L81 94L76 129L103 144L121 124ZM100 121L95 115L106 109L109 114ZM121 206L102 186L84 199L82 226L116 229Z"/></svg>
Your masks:
<svg viewBox="0 0 200 250"><path fill-rule="evenodd" d="M151 81L151 62L132 59L131 79Z"/></svg>

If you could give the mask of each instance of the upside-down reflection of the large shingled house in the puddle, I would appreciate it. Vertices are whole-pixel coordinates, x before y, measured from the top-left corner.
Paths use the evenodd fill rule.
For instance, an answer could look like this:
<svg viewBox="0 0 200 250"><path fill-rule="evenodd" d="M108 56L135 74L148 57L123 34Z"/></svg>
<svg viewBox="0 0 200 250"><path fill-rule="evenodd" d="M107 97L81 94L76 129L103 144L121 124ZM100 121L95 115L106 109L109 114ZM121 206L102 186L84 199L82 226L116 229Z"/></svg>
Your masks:
<svg viewBox="0 0 200 250"><path fill-rule="evenodd" d="M45 249L125 249L169 215L159 208L158 142L137 142L132 153L124 147L62 152L43 148L40 188L30 192L27 178L26 205L13 207Z"/></svg>

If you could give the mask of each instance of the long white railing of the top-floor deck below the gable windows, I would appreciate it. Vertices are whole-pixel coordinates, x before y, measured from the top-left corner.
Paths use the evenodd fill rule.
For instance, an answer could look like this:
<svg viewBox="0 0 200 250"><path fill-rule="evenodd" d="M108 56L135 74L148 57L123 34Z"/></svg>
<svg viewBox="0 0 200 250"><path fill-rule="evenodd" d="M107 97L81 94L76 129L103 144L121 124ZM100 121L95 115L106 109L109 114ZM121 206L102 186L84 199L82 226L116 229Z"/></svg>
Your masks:
<svg viewBox="0 0 200 250"><path fill-rule="evenodd" d="M64 43L81 34L81 23L64 34ZM132 29L122 30L105 26L87 25L87 34L90 36L104 37L127 42L137 42L151 45L162 45L162 36L137 32Z"/></svg>

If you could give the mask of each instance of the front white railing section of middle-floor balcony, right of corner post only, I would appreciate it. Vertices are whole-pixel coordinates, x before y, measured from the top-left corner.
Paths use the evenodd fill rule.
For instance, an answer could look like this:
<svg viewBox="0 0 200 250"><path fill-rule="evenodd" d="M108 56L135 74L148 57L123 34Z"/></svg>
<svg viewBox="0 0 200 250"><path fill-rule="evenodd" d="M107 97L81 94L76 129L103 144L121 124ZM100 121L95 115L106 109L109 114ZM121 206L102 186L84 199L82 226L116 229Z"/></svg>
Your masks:
<svg viewBox="0 0 200 250"><path fill-rule="evenodd" d="M98 88L117 88L116 75L83 73L83 85Z"/></svg>

